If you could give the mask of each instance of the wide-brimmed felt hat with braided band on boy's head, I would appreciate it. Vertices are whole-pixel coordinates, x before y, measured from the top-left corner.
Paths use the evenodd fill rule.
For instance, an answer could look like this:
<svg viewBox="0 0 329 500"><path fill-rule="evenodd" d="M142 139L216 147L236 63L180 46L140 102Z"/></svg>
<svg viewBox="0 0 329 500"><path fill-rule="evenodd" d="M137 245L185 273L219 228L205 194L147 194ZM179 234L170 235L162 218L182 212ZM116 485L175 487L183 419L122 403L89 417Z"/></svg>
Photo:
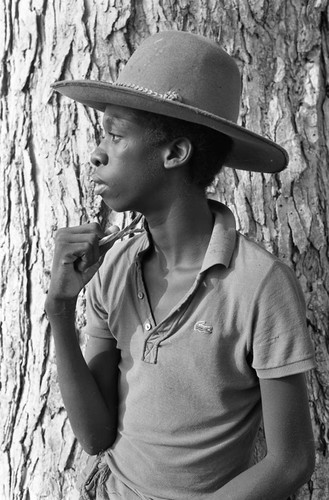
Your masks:
<svg viewBox="0 0 329 500"><path fill-rule="evenodd" d="M99 111L115 104L210 127L233 141L226 166L280 172L288 164L287 152L236 123L240 81L234 59L215 42L164 31L137 48L115 82L63 80L52 87Z"/></svg>

